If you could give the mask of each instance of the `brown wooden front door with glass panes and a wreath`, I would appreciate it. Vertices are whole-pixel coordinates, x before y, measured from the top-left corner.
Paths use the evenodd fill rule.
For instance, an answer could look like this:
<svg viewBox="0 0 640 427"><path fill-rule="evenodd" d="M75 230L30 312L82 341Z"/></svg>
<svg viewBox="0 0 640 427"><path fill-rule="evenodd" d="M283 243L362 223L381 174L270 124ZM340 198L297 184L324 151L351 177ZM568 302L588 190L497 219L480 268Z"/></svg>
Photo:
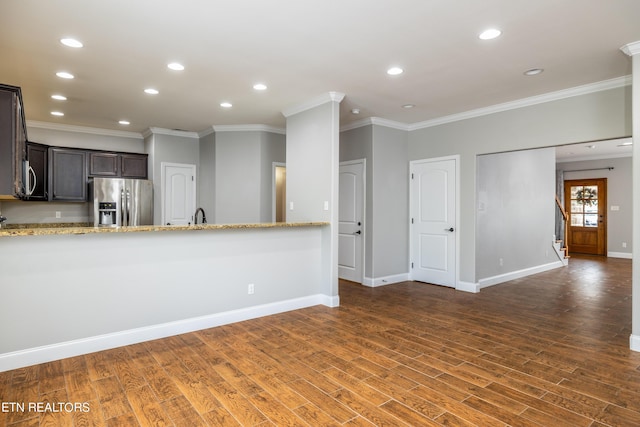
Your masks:
<svg viewBox="0 0 640 427"><path fill-rule="evenodd" d="M564 194L569 253L606 255L607 179L567 180Z"/></svg>

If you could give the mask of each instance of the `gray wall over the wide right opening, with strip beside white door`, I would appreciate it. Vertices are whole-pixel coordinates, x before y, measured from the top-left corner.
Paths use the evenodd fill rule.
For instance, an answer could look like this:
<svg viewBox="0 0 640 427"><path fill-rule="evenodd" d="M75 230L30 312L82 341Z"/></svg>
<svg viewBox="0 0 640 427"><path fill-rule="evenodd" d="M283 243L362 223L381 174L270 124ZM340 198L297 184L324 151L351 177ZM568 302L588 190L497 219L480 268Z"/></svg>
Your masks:
<svg viewBox="0 0 640 427"><path fill-rule="evenodd" d="M631 134L630 88L622 87L409 133L409 160L460 155L460 280L476 278L476 156Z"/></svg>

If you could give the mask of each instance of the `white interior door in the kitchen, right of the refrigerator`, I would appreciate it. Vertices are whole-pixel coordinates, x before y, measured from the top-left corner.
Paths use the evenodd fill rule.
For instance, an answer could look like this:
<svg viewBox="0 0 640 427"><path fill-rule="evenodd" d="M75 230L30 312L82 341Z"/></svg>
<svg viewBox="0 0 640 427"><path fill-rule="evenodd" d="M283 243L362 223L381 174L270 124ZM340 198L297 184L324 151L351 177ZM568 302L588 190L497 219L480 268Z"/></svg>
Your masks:
<svg viewBox="0 0 640 427"><path fill-rule="evenodd" d="M193 224L196 211L196 166L162 163L162 223Z"/></svg>

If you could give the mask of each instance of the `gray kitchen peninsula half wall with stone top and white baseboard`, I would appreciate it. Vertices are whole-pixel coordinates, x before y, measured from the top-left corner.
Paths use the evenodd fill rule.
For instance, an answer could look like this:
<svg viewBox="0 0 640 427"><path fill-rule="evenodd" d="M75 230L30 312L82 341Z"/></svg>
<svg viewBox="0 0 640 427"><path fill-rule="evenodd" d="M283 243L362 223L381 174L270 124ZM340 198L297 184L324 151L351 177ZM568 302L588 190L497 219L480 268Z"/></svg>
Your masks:
<svg viewBox="0 0 640 427"><path fill-rule="evenodd" d="M0 371L323 304L327 223L0 231Z"/></svg>

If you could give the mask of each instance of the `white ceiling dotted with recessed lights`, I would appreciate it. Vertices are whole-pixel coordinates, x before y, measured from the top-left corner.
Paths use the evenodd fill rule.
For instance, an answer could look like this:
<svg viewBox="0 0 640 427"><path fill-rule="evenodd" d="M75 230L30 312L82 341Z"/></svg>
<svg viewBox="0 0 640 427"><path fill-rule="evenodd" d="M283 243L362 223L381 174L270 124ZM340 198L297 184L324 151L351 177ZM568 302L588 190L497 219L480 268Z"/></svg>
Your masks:
<svg viewBox="0 0 640 427"><path fill-rule="evenodd" d="M638 0L0 3L0 83L22 87L27 120L132 132L283 128L283 110L329 91L346 94L343 125L409 125L629 75L620 47L640 40ZM479 40L489 27L502 36ZM172 61L186 69L167 69ZM387 75L392 65L404 74ZM544 73L523 75L536 67Z"/></svg>

